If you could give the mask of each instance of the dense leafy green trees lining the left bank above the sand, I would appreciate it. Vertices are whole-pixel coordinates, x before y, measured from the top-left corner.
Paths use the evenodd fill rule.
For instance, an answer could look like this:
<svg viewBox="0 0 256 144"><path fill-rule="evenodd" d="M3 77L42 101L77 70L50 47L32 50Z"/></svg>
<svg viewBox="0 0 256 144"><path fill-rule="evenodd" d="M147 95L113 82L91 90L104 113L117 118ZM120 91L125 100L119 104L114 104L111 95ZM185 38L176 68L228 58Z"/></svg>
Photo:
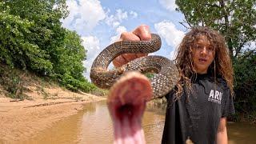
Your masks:
<svg viewBox="0 0 256 144"><path fill-rule="evenodd" d="M0 2L1 62L58 78L70 90L94 90L82 75L82 40L60 22L67 14L66 0Z"/></svg>

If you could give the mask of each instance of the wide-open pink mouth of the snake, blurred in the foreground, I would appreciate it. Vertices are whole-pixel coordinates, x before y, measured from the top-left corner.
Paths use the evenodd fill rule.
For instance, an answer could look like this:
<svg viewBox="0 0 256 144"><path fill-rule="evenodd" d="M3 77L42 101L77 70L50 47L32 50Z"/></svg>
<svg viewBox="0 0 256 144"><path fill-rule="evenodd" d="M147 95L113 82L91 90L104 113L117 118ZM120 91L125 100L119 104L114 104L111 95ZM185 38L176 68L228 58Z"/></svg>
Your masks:
<svg viewBox="0 0 256 144"><path fill-rule="evenodd" d="M138 72L128 72L110 89L108 108L114 124L114 143L146 143L142 115L152 97L150 81Z"/></svg>

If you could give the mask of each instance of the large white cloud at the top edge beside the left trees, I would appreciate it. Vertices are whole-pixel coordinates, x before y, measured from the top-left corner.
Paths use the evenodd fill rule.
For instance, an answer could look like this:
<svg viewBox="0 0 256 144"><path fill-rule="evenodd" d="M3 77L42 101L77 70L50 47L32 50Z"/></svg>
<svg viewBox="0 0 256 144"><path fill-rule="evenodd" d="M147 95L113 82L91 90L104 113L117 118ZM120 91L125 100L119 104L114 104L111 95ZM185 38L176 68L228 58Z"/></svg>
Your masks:
<svg viewBox="0 0 256 144"><path fill-rule="evenodd" d="M98 0L68 0L70 14L62 20L62 26L77 32L90 31L98 22L106 18L101 2ZM82 31L84 30L84 31Z"/></svg>

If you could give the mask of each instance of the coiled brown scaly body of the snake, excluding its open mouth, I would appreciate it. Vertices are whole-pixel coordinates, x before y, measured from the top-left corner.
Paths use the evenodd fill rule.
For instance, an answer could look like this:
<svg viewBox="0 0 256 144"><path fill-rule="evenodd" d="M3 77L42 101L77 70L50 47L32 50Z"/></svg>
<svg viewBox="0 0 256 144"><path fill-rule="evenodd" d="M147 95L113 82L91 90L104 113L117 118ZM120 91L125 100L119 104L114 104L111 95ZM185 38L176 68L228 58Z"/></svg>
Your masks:
<svg viewBox="0 0 256 144"><path fill-rule="evenodd" d="M146 56L133 61L114 70L107 70L110 62L118 55L128 53L152 53L161 47L161 38L158 34L151 34L150 41L120 41L114 42L102 50L90 70L91 81L98 87L108 89L118 78L128 70L137 70L141 73L154 72L150 78L154 98L162 98L178 82L178 69L168 58L162 56Z"/></svg>

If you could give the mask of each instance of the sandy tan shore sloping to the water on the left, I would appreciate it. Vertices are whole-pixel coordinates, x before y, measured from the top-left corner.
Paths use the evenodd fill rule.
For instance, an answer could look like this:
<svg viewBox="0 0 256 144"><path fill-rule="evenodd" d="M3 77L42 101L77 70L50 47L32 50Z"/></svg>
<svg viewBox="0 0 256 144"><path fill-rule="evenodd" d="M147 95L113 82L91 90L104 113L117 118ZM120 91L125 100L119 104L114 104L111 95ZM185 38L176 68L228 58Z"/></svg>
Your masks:
<svg viewBox="0 0 256 144"><path fill-rule="evenodd" d="M106 99L92 94L72 93L61 88L50 88L45 91L48 94L47 98L35 94L32 90L29 95L33 100L18 102L0 95L1 144L18 143L21 139L32 138L54 122L77 114L86 103Z"/></svg>

